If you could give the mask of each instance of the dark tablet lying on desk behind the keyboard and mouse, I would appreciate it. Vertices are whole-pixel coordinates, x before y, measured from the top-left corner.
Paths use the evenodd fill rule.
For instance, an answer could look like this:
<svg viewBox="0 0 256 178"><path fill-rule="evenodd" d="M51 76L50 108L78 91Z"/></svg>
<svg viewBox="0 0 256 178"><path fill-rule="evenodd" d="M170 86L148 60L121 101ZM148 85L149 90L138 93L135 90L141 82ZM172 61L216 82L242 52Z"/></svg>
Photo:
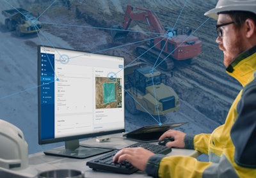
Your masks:
<svg viewBox="0 0 256 178"><path fill-rule="evenodd" d="M163 124L159 125L150 125L143 126L137 130L125 133L123 137L126 137L131 140L136 140L138 142L158 142L158 138L167 130L182 126L188 122L179 122L173 124Z"/></svg>

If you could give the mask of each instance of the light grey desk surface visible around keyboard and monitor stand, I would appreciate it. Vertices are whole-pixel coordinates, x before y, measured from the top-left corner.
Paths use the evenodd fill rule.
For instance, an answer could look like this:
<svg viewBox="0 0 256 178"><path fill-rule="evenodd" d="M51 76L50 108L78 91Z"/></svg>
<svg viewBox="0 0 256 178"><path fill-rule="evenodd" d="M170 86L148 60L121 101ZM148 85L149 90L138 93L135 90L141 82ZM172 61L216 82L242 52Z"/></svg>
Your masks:
<svg viewBox="0 0 256 178"><path fill-rule="evenodd" d="M136 141L128 140L122 137L122 134L113 134L110 135L111 139L109 142L97 142L95 138L84 140L81 144L90 144L90 145L100 145L106 147L116 147L117 149L122 149L128 145L134 144ZM190 156L195 152L194 150L188 149L172 149L170 152L170 156L173 155L184 155ZM46 170L54 170L54 169L76 169L84 172L85 177L148 177L144 172L136 172L132 175L125 174L115 174L110 172L97 172L92 170L86 166L86 161L102 156L102 154L98 156L93 156L86 159L73 159L73 158L63 158L58 156L45 156L44 152L38 152L35 154L29 155L29 165L31 167L36 168L38 172L43 172Z"/></svg>

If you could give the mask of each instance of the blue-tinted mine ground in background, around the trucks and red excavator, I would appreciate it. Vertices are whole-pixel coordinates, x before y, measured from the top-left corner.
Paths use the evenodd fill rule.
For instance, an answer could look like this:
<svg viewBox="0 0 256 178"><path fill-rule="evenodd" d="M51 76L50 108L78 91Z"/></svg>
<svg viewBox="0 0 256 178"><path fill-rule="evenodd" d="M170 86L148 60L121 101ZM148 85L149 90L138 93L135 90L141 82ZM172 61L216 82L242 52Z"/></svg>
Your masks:
<svg viewBox="0 0 256 178"><path fill-rule="evenodd" d="M28 118L26 122L36 125L37 45L124 56L125 64L140 60L135 48L138 41L150 38L147 24L132 21L133 32L129 33L125 41L113 43L110 35L112 26L122 25L126 6L131 4L154 11L163 26L175 27L179 31L186 27L191 28L193 35L202 41L202 52L194 57L190 64L177 63L172 71L160 70L168 76L168 85L179 95L180 109L153 119L147 114L141 113L137 117L125 112L125 118L129 123L127 131L143 124L156 124L156 119L161 119L161 122L189 122L182 130L189 130L191 133L210 132L225 121L228 108L241 85L227 75L223 66L223 53L215 42L216 21L204 16L205 11L213 8L216 1L68 2L70 3L52 0L0 1L1 10L13 7L26 8L38 16L43 25L39 35L17 37L14 32L7 31L4 27L4 17L0 16L1 40L4 40L0 43L3 49L0 53L2 118L6 117L16 122L19 115ZM141 120L140 124L138 118Z"/></svg>

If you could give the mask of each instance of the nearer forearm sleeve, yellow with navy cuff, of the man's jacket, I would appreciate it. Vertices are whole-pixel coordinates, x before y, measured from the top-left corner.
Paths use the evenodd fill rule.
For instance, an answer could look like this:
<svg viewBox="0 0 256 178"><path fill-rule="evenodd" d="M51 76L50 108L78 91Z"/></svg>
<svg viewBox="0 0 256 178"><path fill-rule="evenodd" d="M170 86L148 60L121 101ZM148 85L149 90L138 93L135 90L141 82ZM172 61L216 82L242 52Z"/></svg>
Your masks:
<svg viewBox="0 0 256 178"><path fill-rule="evenodd" d="M231 155L230 155L231 153ZM155 154L148 159L145 172L152 177L163 178L192 178L192 177L255 177L255 169L238 168L234 163L230 162L232 151L221 155L218 163L198 161L196 158L189 156L165 156L163 154ZM239 171L239 175L237 175Z"/></svg>

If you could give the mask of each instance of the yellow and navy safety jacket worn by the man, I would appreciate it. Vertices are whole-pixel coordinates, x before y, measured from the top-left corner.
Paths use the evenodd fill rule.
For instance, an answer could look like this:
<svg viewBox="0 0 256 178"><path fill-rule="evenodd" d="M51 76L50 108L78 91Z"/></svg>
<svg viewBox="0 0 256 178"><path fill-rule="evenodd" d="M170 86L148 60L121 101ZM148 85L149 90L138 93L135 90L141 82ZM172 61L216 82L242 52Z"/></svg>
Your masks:
<svg viewBox="0 0 256 178"><path fill-rule="evenodd" d="M153 177L256 177L256 46L243 52L227 73L243 89L230 107L225 123L211 134L186 135L186 149L209 155L209 162L189 156L156 154L145 172Z"/></svg>

